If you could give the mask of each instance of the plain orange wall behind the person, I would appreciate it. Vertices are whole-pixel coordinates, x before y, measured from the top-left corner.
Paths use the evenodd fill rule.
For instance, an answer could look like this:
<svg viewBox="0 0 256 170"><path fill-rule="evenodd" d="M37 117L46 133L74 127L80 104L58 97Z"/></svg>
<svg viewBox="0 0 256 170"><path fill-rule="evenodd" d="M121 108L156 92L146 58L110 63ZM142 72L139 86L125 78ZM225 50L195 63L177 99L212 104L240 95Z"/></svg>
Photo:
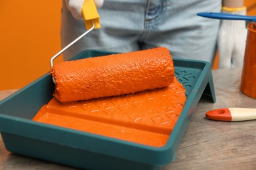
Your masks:
<svg viewBox="0 0 256 170"><path fill-rule="evenodd" d="M245 0L248 15L256 15L255 3ZM61 49L61 8L60 0L0 1L0 90L22 88L50 71Z"/></svg>

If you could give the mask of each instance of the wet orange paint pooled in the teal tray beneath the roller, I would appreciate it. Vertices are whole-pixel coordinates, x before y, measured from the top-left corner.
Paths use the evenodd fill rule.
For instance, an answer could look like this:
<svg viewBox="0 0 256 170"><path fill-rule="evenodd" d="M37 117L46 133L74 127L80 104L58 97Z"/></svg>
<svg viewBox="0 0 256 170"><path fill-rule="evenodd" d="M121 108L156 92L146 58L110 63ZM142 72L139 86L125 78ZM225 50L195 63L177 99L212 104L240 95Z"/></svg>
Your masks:
<svg viewBox="0 0 256 170"><path fill-rule="evenodd" d="M185 90L173 76L174 67L172 70L172 82L162 88L66 103L54 97L33 120L148 146L164 146L186 101Z"/></svg>

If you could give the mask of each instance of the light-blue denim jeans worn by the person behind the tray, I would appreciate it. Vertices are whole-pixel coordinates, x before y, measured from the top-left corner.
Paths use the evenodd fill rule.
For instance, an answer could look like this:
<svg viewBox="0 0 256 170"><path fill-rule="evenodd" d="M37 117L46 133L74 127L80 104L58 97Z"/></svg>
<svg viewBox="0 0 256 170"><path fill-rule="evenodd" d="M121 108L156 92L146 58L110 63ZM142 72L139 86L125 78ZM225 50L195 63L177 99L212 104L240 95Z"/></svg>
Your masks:
<svg viewBox="0 0 256 170"><path fill-rule="evenodd" d="M197 16L221 12L221 0L105 0L100 29L94 29L64 52L70 59L86 49L129 52L165 46L173 58L200 59L212 63L220 20ZM62 7L62 47L86 31Z"/></svg>

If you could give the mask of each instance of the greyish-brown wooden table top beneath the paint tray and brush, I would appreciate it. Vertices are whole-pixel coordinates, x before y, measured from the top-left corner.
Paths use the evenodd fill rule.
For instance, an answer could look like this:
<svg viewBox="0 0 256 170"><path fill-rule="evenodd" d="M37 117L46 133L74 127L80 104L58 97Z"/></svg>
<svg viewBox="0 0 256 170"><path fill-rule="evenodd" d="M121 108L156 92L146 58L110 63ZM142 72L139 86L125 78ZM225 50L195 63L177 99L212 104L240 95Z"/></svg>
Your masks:
<svg viewBox="0 0 256 170"><path fill-rule="evenodd" d="M256 169L256 120L218 122L207 120L207 110L226 107L256 108L256 100L239 90L241 69L213 71L216 103L202 97L175 161L163 169ZM0 99L15 90L0 91ZM0 138L0 169L74 169L48 161L12 154Z"/></svg>

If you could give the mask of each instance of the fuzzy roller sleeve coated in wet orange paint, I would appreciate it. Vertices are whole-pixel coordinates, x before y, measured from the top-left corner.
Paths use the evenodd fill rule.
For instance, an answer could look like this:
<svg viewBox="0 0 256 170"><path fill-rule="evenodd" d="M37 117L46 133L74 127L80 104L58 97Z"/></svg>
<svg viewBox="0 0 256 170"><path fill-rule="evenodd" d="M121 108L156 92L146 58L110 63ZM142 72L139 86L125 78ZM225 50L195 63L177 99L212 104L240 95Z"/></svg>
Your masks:
<svg viewBox="0 0 256 170"><path fill-rule="evenodd" d="M169 86L173 59L167 48L153 48L56 63L54 97L64 103Z"/></svg>

